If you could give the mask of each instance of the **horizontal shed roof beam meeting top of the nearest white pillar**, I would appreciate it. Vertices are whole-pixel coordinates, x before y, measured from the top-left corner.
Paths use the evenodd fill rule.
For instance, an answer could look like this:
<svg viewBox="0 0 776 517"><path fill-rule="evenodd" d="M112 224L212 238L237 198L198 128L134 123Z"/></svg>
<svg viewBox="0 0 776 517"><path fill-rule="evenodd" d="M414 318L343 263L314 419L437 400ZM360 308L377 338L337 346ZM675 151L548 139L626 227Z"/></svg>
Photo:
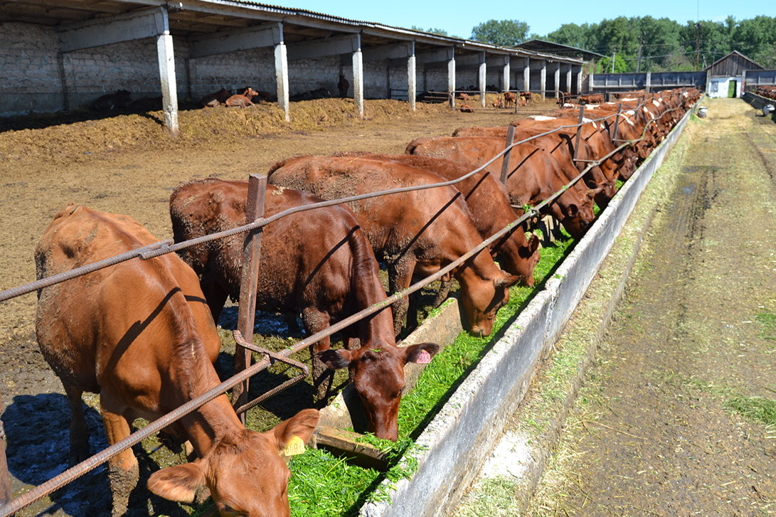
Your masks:
<svg viewBox="0 0 776 517"><path fill-rule="evenodd" d="M152 7L68 26L57 31L57 36L60 51L71 52L159 36L168 30L167 10Z"/></svg>

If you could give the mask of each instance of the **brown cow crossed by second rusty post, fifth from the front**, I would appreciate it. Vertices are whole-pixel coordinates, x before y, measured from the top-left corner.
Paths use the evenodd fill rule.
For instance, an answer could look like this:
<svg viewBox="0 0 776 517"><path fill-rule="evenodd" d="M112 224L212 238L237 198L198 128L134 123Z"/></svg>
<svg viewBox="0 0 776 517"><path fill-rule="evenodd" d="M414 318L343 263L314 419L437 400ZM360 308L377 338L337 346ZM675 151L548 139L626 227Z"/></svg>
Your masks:
<svg viewBox="0 0 776 517"><path fill-rule="evenodd" d="M432 137L418 138L407 145L408 154L447 158L478 167L504 151L504 139L497 137ZM502 158L490 165L501 170ZM563 189L566 176L552 155L534 145L520 144L512 148L509 161L507 190L511 202L534 206ZM581 183L581 184L580 184ZM577 182L546 208L566 231L580 238L595 216L593 196L584 182Z"/></svg>

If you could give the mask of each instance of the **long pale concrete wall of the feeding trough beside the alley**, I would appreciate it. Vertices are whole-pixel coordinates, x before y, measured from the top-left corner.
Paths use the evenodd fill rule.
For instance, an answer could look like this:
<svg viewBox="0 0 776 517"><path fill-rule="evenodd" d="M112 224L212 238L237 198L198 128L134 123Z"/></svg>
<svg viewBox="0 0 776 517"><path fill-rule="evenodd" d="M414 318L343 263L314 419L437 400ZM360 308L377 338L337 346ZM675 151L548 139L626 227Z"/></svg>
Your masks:
<svg viewBox="0 0 776 517"><path fill-rule="evenodd" d="M412 479L383 481L390 501L367 502L359 515L445 515L458 504L690 114L688 110L625 183L545 289L536 293L418 437L418 448L402 460L407 467L417 461Z"/></svg>

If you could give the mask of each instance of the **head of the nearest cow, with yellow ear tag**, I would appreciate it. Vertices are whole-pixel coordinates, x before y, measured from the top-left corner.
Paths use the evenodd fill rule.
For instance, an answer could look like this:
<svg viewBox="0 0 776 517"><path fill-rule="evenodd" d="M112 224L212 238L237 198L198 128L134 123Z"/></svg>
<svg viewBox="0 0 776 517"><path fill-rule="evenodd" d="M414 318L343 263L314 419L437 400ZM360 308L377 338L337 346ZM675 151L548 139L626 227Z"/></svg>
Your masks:
<svg viewBox="0 0 776 517"><path fill-rule="evenodd" d="M291 515L291 472L281 453L294 436L307 442L318 418L317 410L305 409L272 431L228 432L217 437L203 458L151 474L148 489L172 501L191 502L196 491L206 486L220 515Z"/></svg>

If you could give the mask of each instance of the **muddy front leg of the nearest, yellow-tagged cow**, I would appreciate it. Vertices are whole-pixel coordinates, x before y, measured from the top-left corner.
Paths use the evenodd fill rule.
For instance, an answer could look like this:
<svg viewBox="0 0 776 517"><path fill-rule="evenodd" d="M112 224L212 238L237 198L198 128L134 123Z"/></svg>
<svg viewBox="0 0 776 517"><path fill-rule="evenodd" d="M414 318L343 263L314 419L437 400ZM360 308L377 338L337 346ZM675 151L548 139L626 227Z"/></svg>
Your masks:
<svg viewBox="0 0 776 517"><path fill-rule="evenodd" d="M104 390L100 393L102 425L105 426L109 445L125 439L132 432L130 423L122 414L125 409L120 404L113 402L112 397L107 395ZM126 449L123 453L108 460L110 491L113 493L113 517L126 514L126 508L130 503L130 494L137 485L139 476L140 469L132 449Z"/></svg>

